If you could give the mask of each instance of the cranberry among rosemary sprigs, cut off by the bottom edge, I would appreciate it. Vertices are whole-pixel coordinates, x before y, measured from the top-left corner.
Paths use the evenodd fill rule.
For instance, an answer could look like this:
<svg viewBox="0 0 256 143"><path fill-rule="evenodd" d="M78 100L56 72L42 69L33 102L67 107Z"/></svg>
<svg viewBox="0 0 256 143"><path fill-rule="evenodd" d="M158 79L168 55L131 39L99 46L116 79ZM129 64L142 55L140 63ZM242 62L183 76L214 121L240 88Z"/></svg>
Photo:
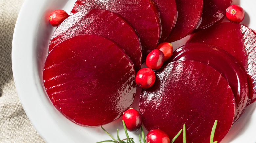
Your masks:
<svg viewBox="0 0 256 143"><path fill-rule="evenodd" d="M164 131L154 129L148 132L146 141L150 143L170 143L170 138Z"/></svg>

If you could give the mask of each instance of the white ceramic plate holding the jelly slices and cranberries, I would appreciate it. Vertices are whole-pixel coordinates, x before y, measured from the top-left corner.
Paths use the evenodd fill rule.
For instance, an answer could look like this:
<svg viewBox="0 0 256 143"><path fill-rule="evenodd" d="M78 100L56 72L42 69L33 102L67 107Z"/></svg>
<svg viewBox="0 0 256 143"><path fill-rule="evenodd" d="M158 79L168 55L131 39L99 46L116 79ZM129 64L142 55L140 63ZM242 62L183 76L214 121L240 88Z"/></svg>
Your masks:
<svg viewBox="0 0 256 143"><path fill-rule="evenodd" d="M52 105L43 87L42 69L48 53L49 40L54 30L48 23L48 16L55 9L71 11L75 1L25 0L13 35L12 69L18 95L33 126L49 143L94 143L111 139L100 127L82 127L66 119ZM240 4L245 9L245 20L242 24L256 29L254 11L256 1L234 0L233 4ZM177 49L181 44L182 42L179 41L173 45ZM136 98L137 101L138 96ZM135 102L133 106L136 108L137 103ZM256 143L255 107L256 102L245 110L222 143ZM120 137L126 138L121 119L105 125L104 128L115 137L116 129L119 128ZM129 135L138 142L138 133L129 133Z"/></svg>

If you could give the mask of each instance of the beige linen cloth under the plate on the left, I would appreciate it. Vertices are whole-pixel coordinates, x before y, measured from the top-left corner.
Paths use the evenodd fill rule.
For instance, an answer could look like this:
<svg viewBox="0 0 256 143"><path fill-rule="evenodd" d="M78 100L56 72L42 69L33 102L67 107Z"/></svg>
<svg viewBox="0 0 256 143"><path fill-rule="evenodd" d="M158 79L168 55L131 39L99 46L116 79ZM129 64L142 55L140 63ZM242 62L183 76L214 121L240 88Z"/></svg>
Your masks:
<svg viewBox="0 0 256 143"><path fill-rule="evenodd" d="M44 142L22 108L12 74L12 36L23 1L0 0L0 143Z"/></svg>

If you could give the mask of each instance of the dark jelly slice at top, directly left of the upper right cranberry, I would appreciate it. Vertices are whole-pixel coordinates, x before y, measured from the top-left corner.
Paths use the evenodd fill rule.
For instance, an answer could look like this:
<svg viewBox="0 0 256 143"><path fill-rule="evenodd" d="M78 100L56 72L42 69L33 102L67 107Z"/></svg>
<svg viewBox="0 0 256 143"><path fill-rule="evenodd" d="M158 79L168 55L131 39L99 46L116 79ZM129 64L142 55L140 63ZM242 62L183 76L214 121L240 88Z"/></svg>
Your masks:
<svg viewBox="0 0 256 143"><path fill-rule="evenodd" d="M204 0L202 21L196 30L222 21L230 4L231 0Z"/></svg>

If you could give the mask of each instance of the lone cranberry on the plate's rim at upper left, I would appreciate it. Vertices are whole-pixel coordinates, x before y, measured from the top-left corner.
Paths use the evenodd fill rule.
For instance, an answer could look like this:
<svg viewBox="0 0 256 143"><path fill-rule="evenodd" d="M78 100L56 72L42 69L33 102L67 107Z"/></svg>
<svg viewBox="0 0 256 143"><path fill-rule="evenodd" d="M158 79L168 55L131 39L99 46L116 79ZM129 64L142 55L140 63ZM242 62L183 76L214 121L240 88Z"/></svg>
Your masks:
<svg viewBox="0 0 256 143"><path fill-rule="evenodd" d="M69 15L64 10L54 10L49 17L49 22L52 26L57 27L61 24Z"/></svg>

